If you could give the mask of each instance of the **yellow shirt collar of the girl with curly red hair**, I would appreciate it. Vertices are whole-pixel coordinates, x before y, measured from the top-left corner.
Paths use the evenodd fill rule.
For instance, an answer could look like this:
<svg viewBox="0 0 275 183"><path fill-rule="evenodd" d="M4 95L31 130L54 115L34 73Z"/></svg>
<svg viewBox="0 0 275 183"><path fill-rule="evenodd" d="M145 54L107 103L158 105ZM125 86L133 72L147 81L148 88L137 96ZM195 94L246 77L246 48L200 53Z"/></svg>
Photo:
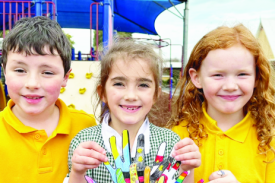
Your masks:
<svg viewBox="0 0 275 183"><path fill-rule="evenodd" d="M202 121L206 127L207 133L213 134L225 134L229 138L243 143L248 135L248 132L252 125L254 124L254 119L251 116L251 113L248 112L246 116L235 126L229 130L223 132L218 126L217 121L212 119L206 112L205 104L202 105L203 117Z"/></svg>

